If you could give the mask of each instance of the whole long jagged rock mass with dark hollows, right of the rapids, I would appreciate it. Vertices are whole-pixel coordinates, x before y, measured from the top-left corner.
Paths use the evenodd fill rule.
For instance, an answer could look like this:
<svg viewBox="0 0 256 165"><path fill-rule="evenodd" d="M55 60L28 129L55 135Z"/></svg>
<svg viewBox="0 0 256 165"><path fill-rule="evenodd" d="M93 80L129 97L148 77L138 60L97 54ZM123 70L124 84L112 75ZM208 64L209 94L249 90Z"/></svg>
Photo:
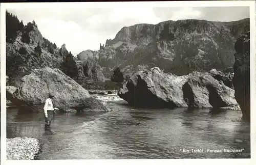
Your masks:
<svg viewBox="0 0 256 165"><path fill-rule="evenodd" d="M135 106L225 107L236 105L234 90L211 73L194 71L177 76L158 67L140 71L127 80L118 96Z"/></svg>

